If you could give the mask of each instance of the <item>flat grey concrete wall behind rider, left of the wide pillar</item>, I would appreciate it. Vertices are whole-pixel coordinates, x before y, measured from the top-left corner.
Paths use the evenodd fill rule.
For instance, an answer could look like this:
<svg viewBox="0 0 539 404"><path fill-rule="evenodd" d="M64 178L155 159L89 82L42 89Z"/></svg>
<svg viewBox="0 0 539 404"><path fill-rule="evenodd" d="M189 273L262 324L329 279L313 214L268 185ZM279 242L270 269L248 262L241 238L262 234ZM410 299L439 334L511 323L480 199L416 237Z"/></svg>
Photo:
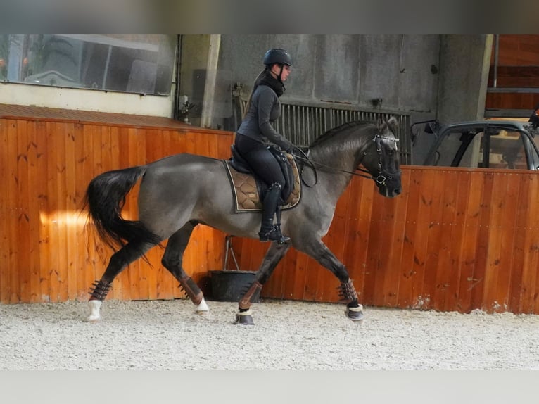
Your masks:
<svg viewBox="0 0 539 404"><path fill-rule="evenodd" d="M191 37L184 36L184 44L198 40ZM282 96L285 102L330 101L373 109L372 100L381 99L376 108L382 111L405 111L421 118L436 113L438 35L236 34L220 37L212 127L236 129L227 126L232 116L231 87L240 82L247 97L253 80L263 68L262 57L271 47L287 49L293 57L293 72ZM191 58L187 46L184 46L182 60ZM196 53L199 52L197 49ZM189 73L185 73L184 80L188 79ZM183 84L182 80L182 87ZM184 88L189 88L190 84L185 84ZM196 94L201 94L202 90L192 88L192 91L196 102Z"/></svg>

